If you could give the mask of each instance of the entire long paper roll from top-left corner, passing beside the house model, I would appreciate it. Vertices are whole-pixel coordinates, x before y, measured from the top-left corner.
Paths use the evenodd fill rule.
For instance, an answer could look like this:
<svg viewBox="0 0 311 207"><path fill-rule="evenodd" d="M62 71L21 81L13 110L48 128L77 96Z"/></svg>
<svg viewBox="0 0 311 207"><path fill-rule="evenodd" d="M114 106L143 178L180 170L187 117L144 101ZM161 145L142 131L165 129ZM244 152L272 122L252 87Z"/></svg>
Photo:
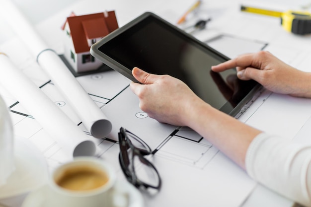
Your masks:
<svg viewBox="0 0 311 207"><path fill-rule="evenodd" d="M63 92L83 125L95 138L105 138L112 130L111 122L90 98L60 57L38 35L11 0L0 0L0 14L27 45L42 69Z"/></svg>

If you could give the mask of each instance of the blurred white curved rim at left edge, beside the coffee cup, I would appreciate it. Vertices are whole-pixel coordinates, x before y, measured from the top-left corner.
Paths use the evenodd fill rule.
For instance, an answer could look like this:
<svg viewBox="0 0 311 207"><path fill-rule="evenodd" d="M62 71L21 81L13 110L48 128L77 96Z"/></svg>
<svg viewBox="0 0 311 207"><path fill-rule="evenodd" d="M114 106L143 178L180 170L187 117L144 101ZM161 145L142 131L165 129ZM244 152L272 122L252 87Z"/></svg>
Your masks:
<svg viewBox="0 0 311 207"><path fill-rule="evenodd" d="M46 160L27 138L14 137L15 170L0 187L0 199L14 197L44 185L48 177Z"/></svg>

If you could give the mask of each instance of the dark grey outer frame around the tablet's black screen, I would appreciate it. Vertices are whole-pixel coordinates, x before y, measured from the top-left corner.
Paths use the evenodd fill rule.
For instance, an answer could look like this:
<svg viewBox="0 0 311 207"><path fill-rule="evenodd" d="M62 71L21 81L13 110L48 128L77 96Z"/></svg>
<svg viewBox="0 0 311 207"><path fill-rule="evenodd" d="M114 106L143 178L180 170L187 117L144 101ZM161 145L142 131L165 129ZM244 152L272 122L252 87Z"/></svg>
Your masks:
<svg viewBox="0 0 311 207"><path fill-rule="evenodd" d="M218 56L220 59L224 59L225 61L230 60L227 56L223 55L219 51L209 47L207 44L199 41L198 39L194 38L192 35L186 33L185 31L183 31L180 28L174 26L173 24L167 22L166 20L162 19L161 17L157 16L156 14L154 14L152 12L143 13L142 15L138 16L137 18L130 21L126 25L120 27L119 29L113 31L112 33L105 36L104 38L102 38L98 42L94 43L90 48L91 55L94 56L95 58L97 58L98 60L100 60L101 62L103 62L108 67L110 67L110 68L116 70L117 72L121 73L122 75L126 76L130 80L132 80L134 82L138 82L134 78L134 76L132 75L132 69L129 69L129 68L123 66L122 64L120 64L119 62L115 61L114 59L112 59L108 55L101 52L99 50L99 48L102 47L104 44L108 43L109 41L113 40L117 36L121 35L125 31L127 31L128 29L137 25L138 23L140 23L141 21L143 21L144 19L146 19L149 16L152 16L152 17L156 18L157 20L160 20L162 23L164 23L167 26L171 27L172 29L178 31L179 33L184 35L186 38L189 38L189 40L193 41L195 44L199 45L200 47L203 47L204 49L209 50L214 55ZM253 94L258 90L259 87L260 87L260 85L256 84L250 90L250 92L235 107L230 106L230 103L227 101L227 103L225 105L223 105L219 110L223 111L223 112L225 112L231 116L235 116L240 111L240 109L247 103L247 101L249 101L253 97Z"/></svg>

